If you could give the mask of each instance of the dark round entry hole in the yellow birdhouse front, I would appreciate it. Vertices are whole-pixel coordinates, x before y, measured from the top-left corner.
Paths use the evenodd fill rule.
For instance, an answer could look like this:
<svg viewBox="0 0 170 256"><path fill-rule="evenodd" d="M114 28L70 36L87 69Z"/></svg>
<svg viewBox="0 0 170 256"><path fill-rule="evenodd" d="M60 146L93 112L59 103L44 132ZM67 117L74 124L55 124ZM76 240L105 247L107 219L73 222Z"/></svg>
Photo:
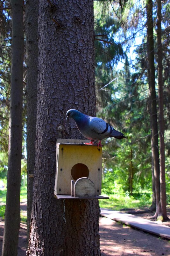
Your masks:
<svg viewBox="0 0 170 256"><path fill-rule="evenodd" d="M74 180L82 177L89 177L89 169L85 164L75 164L71 169L71 176Z"/></svg>

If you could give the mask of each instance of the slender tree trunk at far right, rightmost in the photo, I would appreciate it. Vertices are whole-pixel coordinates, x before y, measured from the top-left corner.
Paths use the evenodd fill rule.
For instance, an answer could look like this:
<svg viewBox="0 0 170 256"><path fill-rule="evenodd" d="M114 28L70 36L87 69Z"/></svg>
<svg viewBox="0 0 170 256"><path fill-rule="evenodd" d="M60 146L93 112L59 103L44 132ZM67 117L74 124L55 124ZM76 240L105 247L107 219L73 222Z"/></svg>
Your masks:
<svg viewBox="0 0 170 256"><path fill-rule="evenodd" d="M165 140L164 140L164 104L162 77L162 31L161 31L161 0L158 0L157 41L158 41L158 100L159 100L159 144L160 144L160 204L163 219L167 220L166 183L165 183Z"/></svg>

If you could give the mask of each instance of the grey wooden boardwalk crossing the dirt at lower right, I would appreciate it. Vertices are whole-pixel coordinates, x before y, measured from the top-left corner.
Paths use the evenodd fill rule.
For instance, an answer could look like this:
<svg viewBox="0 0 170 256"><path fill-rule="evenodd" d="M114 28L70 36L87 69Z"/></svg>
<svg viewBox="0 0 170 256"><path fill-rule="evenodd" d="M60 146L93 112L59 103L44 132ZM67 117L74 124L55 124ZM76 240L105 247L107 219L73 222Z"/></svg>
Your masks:
<svg viewBox="0 0 170 256"><path fill-rule="evenodd" d="M132 214L119 211L112 211L101 208L100 215L110 218L111 220L121 221L131 227L141 229L154 235L170 239L170 227L146 220Z"/></svg>

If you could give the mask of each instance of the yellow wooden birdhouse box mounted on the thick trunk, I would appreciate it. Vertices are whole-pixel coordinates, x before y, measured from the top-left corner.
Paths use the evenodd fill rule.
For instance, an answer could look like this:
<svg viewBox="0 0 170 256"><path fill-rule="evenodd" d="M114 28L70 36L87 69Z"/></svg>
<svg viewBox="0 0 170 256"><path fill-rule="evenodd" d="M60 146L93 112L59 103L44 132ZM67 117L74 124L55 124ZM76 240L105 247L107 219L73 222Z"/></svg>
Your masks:
<svg viewBox="0 0 170 256"><path fill-rule="evenodd" d="M103 199L102 147L87 140L58 139L54 196L58 199Z"/></svg>

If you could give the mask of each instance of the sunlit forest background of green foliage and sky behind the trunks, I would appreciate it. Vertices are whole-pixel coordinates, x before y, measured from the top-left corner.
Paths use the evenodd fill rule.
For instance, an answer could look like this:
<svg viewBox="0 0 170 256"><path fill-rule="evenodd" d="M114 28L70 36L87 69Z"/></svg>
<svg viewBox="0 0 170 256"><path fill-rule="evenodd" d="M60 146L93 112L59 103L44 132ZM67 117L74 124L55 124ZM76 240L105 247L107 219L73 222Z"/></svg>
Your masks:
<svg viewBox="0 0 170 256"><path fill-rule="evenodd" d="M126 140L103 140L103 195L100 205L114 209L156 204L151 147L151 90L149 54L154 53L157 120L159 121L157 9L153 1L153 50L148 50L148 13L145 1L94 1L95 81L97 116L126 135ZM163 116L165 130L166 204L170 203L170 88L169 1L161 1ZM25 17L24 17L25 19ZM5 198L11 88L11 8L0 1L0 195ZM25 42L26 44L26 42ZM26 83L24 51L22 189L26 195ZM71 108L71 106L70 106ZM63 117L65 118L65 117ZM159 122L158 122L159 123ZM160 125L158 126L160 130ZM4 199L5 201L5 199ZM154 208L154 207L153 207ZM1 205L1 216L5 206ZM155 208L156 209L156 208Z"/></svg>

